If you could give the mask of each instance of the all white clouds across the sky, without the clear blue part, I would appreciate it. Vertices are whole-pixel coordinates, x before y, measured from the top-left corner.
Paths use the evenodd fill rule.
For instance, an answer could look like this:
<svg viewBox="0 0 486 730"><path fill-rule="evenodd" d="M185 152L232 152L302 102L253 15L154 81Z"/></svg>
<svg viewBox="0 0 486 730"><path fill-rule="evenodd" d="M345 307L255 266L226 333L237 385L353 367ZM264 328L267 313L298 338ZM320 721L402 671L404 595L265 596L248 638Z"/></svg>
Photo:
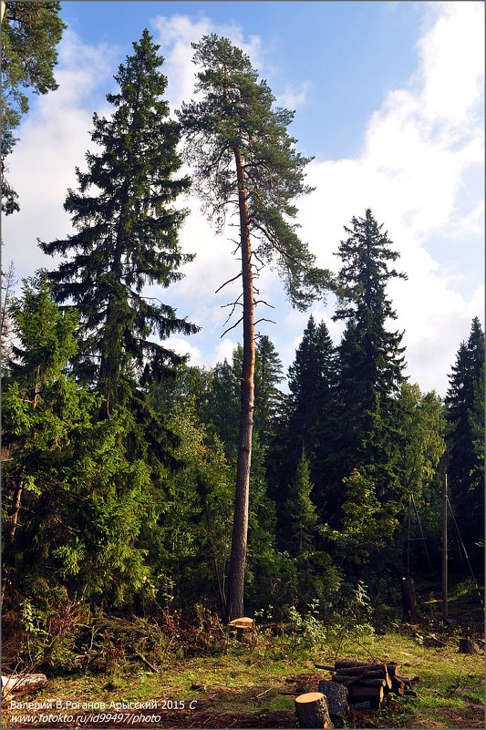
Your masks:
<svg viewBox="0 0 486 730"><path fill-rule="evenodd" d="M408 273L408 282L393 283L389 291L397 325L406 331L408 374L422 387L435 387L443 394L458 344L467 337L472 316L482 311L482 288L465 288L460 257L467 242L482 271L484 7L476 2L437 2L423 8L416 72L406 86L388 91L368 119L355 158L315 159L309 165L307 181L315 192L299 201L299 221L319 264L335 271L339 262L333 253L352 216L370 207L385 223L401 255L399 266ZM238 26L189 15L159 15L151 22L165 57L172 111L193 96L191 43L203 35L230 37L263 76L274 63L262 38L247 37ZM67 188L76 185L75 166L83 167L86 149L93 148L88 135L92 112L108 111L104 94L113 87L111 76L121 56L115 47L88 46L68 30L57 67L59 89L35 100L20 129L21 140L9 162L22 210L5 219L3 232L4 259L14 258L17 276L52 265L37 249L36 236L50 241L69 231L62 202ZM278 103L295 108L314 91L302 80L284 89ZM235 329L220 339L228 314L223 304L237 296L238 282L215 293L237 272L229 240L236 234L228 227L217 236L194 197L182 204L191 212L181 230L181 245L197 256L184 267L185 279L153 295L204 327L189 340L172 338L174 349L190 353L194 364L213 365L231 357L241 337ZM446 241L447 257L441 249ZM273 273L265 272L260 285L262 297L276 305L270 317L278 325L266 332L286 368L309 313L284 304ZM312 312L318 321L325 319L337 343L342 323L332 322L332 304L331 297L328 306L316 303Z"/></svg>

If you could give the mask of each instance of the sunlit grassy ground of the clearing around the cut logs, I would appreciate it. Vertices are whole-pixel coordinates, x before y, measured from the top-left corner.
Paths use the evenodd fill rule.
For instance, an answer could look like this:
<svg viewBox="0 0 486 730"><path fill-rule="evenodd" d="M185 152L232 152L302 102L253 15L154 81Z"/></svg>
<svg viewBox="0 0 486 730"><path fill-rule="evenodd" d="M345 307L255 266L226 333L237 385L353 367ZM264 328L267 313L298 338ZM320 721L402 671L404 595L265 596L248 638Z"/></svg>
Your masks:
<svg viewBox="0 0 486 730"><path fill-rule="evenodd" d="M168 659L157 673L140 669L140 665L124 664L109 676L86 673L52 678L46 690L36 693L36 701L109 704L193 700L196 704L192 713L171 712L167 716L169 724L156 726L189 727L199 717L201 724L193 726L224 727L231 725L229 718L232 722L240 718L251 723L253 717L254 725L243 726L292 727L295 694L315 691L319 676L330 676L324 670L316 670L315 663L334 663L336 657L376 658L398 662L401 673L410 678L419 676L419 696L390 699L378 712L351 716L350 727L482 726L483 656L458 653L457 635L441 636L439 641L443 643L439 646L425 645L428 640L427 632L400 626L383 635L359 632L357 639L351 634L339 639L329 636L325 643L315 646L306 646L305 637L260 634L252 646L232 640L224 653L216 656ZM264 725L272 718L282 724ZM7 709L5 726L10 726L10 720L12 715ZM203 724L212 721L214 725ZM14 718L12 726L28 725L19 725ZM98 725L101 726L105 725Z"/></svg>

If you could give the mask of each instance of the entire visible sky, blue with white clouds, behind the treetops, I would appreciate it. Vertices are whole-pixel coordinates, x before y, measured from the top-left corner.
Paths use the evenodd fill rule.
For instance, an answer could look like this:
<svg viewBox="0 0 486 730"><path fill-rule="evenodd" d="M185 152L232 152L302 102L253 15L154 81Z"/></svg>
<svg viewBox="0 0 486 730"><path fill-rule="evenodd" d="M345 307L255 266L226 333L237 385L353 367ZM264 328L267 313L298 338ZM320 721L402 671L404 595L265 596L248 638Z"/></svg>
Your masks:
<svg viewBox="0 0 486 730"><path fill-rule="evenodd" d="M450 366L473 316L483 311L484 5L481 2L65 2L59 88L35 97L19 128L10 177L21 211L4 221L4 265L18 278L52 268L36 237L64 238L63 211L74 169L84 164L92 113L109 114L105 94L131 42L149 27L160 43L171 109L191 98L191 41L229 36L266 78L279 105L295 109L290 132L315 159L315 192L299 200L301 233L317 262L336 270L353 215L371 207L400 252L408 282L389 294L405 330L408 375L445 394ZM221 338L232 292L215 295L236 272L227 235L216 236L193 195L181 231L196 252L186 278L162 301L202 326L171 338L196 365L231 356L241 334ZM284 361L294 359L309 314L324 319L337 344L333 299L298 313L274 272L261 279L276 325L262 325ZM152 293L152 292L150 292Z"/></svg>

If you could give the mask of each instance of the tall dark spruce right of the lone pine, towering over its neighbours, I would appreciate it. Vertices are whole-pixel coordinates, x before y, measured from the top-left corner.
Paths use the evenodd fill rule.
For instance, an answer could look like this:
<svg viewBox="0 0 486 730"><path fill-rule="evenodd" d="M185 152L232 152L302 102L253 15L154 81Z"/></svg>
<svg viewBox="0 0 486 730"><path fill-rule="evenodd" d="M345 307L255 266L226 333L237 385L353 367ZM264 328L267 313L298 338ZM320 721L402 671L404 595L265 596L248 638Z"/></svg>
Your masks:
<svg viewBox="0 0 486 730"><path fill-rule="evenodd" d="M340 460L342 476L368 464L380 472L384 489L393 481L388 467L393 461L396 397L405 381L402 334L387 328L387 320L397 314L386 288L391 279L407 277L389 267L398 252L369 209L364 218L351 222L337 254L343 262L342 289L333 317L346 321L339 347Z"/></svg>

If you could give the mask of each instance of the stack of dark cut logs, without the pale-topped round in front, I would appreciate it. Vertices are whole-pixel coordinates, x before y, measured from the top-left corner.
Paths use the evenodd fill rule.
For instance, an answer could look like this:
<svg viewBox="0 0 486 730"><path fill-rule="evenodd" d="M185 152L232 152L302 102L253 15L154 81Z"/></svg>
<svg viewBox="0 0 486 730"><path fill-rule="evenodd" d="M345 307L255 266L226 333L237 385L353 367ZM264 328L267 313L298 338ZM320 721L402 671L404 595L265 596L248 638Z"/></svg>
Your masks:
<svg viewBox="0 0 486 730"><path fill-rule="evenodd" d="M413 680L399 673L396 662L369 663L353 660L338 660L334 666L315 664L317 669L328 669L333 673L330 680L322 680L318 691L326 694L329 714L333 718L343 717L347 706L351 710L378 709L387 694L416 697ZM338 693L333 684L339 686Z"/></svg>

